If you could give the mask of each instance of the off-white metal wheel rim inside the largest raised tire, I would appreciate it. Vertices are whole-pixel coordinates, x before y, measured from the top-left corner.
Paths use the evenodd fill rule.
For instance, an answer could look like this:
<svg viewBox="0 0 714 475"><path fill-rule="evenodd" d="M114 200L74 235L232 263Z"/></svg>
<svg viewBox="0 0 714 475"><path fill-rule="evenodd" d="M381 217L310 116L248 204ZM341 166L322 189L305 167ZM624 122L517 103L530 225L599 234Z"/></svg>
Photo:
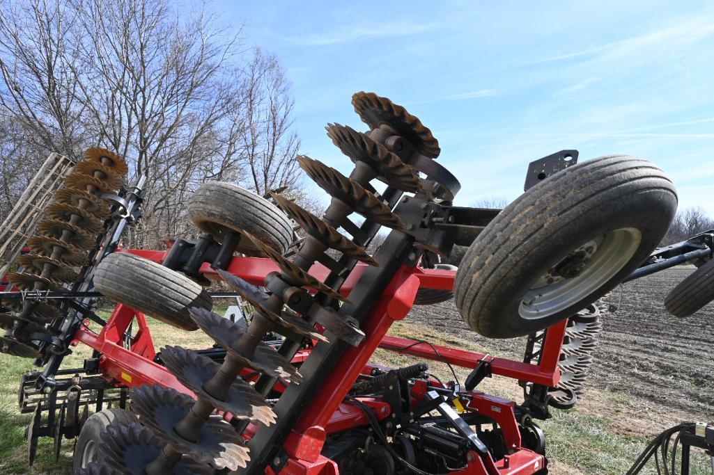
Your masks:
<svg viewBox="0 0 714 475"><path fill-rule="evenodd" d="M640 230L620 228L575 247L568 257L533 282L521 299L518 314L526 320L539 320L575 305L620 272L635 255L640 242ZM590 247L594 249L587 252ZM577 275L562 277L550 272L578 252L584 252L588 260Z"/></svg>

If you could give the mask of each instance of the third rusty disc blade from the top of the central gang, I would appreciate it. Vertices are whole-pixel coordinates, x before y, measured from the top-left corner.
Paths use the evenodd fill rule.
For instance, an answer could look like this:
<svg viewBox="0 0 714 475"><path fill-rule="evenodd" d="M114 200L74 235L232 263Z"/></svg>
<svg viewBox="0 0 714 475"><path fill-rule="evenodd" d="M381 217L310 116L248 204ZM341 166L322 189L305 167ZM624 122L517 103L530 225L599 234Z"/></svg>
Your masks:
<svg viewBox="0 0 714 475"><path fill-rule="evenodd" d="M296 160L298 160L300 168L305 170L305 173L320 188L325 190L328 195L348 205L356 213L387 228L396 230L404 228L397 215L355 180L347 178L334 168L306 155L300 155Z"/></svg>

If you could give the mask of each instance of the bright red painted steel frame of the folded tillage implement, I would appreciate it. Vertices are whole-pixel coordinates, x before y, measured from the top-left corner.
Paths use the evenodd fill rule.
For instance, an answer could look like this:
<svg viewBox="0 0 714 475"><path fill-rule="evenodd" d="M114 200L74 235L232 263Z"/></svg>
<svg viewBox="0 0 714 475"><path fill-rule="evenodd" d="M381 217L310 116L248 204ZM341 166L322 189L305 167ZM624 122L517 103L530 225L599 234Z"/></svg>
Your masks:
<svg viewBox="0 0 714 475"><path fill-rule="evenodd" d="M166 254L165 251L146 250L121 250L121 252L131 252L155 262L164 260ZM340 292L343 295L349 295L353 285L362 275L364 267L364 265L358 265L351 272L341 287ZM271 260L256 257L233 257L228 266L228 272L254 285L263 285L263 278L269 272L276 270L278 268ZM201 272L208 278L219 278L216 271L211 269L208 264L201 267ZM310 273L323 280L329 271L326 267L316 264L313 265ZM402 320L411 310L419 287L451 290L454 276L455 272L453 271L426 270L406 266L396 272L371 314L363 322L361 328L367 336L365 341L358 347L350 347L346 350L336 367L326 378L321 391L306 407L298 424L283 444L289 458L283 466L281 474L338 474L336 464L321 456L326 434L354 427L364 427L368 424L361 409L344 403L343 399L359 375L368 374L371 371L372 366L368 360L378 347L435 361L446 359L453 365L469 369L476 367L476 364L482 359L488 359L491 363L491 372L498 376L543 384L548 387L558 384L560 379L558 357L566 322L550 327L538 364L517 362L449 347L435 346L432 348L410 339L386 335L393 322ZM139 330L131 340L129 347L125 347L124 333L131 322L134 322ZM81 327L75 334L73 344L79 342L101 353L101 372L117 385L136 387L141 384L161 384L164 387L172 387L180 392L191 394L165 367L153 361L156 350L151 339L151 332L146 325L146 319L140 312L124 305L117 305L99 334L92 332L87 327ZM409 348L404 349L405 347ZM309 350L301 350L296 354L293 362L302 362L308 355ZM426 390L426 386L422 389ZM414 394L419 394L419 392L420 388L416 384ZM461 471L453 473L528 475L543 469L544 457L521 446L521 435L514 415L514 402L480 392L461 394L468 396L463 399L466 411L478 412L478 414L490 417L503 429L510 453L498 461L484 461L476 452L469 453L468 465ZM388 417L389 407L387 404L369 398L363 399L363 403L371 407L378 419ZM256 427L248 427L244 435L250 437L255 430ZM273 471L266 469L266 474L270 473Z"/></svg>

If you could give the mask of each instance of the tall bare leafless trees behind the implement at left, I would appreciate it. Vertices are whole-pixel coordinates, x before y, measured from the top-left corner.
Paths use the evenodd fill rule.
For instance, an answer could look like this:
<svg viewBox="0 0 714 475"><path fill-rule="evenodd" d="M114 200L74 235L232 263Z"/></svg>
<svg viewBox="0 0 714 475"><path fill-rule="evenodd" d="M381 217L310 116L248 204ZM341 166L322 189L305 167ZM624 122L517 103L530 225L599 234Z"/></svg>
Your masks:
<svg viewBox="0 0 714 475"><path fill-rule="evenodd" d="M0 4L0 220L39 164L103 146L146 176L131 245L192 233L186 200L210 180L256 193L287 186L293 96L278 59L203 6L168 0Z"/></svg>

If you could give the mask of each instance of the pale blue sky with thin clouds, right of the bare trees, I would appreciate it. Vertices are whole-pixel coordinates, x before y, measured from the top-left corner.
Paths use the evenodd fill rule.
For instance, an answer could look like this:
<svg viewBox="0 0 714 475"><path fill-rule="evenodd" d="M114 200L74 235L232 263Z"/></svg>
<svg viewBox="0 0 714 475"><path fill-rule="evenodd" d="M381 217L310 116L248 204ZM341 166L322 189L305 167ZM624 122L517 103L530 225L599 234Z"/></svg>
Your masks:
<svg viewBox="0 0 714 475"><path fill-rule="evenodd" d="M714 3L708 1L218 1L293 83L302 153L343 173L327 138L365 130L351 95L421 118L462 184L456 203L522 193L531 160L647 158L680 208L714 215Z"/></svg>

